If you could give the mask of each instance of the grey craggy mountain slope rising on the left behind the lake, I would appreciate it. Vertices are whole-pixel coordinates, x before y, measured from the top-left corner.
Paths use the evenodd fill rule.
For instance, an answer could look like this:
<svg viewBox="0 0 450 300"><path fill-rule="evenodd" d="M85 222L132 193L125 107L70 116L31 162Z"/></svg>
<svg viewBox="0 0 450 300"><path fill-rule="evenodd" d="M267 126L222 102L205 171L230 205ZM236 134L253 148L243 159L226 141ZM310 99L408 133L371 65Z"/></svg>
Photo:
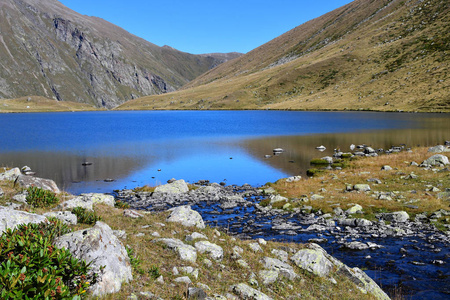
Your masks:
<svg viewBox="0 0 450 300"><path fill-rule="evenodd" d="M56 0L0 0L0 98L37 95L112 108L175 91L239 55L159 47Z"/></svg>

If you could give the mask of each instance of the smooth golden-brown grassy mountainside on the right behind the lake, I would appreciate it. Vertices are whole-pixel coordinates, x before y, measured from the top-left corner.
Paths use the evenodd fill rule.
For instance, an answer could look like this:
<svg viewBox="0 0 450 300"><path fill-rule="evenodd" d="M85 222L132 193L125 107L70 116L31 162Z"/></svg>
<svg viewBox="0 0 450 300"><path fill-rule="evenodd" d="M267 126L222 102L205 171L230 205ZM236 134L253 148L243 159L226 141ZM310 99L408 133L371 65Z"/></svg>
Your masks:
<svg viewBox="0 0 450 300"><path fill-rule="evenodd" d="M450 111L448 0L355 0L119 109Z"/></svg>

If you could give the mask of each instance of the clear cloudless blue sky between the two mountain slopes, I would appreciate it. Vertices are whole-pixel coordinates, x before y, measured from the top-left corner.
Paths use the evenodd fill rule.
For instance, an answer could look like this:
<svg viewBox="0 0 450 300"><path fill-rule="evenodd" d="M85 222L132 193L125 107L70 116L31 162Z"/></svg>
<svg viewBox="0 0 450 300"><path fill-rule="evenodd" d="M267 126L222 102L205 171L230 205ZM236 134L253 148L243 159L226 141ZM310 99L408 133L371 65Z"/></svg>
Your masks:
<svg viewBox="0 0 450 300"><path fill-rule="evenodd" d="M60 0L158 46L246 53L350 0Z"/></svg>

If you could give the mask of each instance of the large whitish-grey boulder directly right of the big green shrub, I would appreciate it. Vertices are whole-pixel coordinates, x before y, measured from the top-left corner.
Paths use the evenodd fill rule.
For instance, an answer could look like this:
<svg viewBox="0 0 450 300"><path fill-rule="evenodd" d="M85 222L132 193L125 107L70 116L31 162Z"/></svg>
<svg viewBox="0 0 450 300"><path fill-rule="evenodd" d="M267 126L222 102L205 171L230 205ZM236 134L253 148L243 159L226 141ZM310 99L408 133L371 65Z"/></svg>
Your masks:
<svg viewBox="0 0 450 300"><path fill-rule="evenodd" d="M116 293L122 283L133 279L128 253L111 228L98 221L94 227L57 238L54 245L67 248L75 257L91 262L98 281L91 287L94 296Z"/></svg>

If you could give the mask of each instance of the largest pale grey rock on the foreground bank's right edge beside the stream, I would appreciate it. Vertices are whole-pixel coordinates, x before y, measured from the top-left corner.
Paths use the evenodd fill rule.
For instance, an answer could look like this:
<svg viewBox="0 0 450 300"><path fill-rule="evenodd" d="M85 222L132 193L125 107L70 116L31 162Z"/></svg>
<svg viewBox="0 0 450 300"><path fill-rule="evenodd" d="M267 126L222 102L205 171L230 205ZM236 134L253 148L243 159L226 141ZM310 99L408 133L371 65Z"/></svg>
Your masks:
<svg viewBox="0 0 450 300"><path fill-rule="evenodd" d="M291 257L291 261L299 268L324 277L333 269L333 264L325 256L325 253L319 249L301 249Z"/></svg>

